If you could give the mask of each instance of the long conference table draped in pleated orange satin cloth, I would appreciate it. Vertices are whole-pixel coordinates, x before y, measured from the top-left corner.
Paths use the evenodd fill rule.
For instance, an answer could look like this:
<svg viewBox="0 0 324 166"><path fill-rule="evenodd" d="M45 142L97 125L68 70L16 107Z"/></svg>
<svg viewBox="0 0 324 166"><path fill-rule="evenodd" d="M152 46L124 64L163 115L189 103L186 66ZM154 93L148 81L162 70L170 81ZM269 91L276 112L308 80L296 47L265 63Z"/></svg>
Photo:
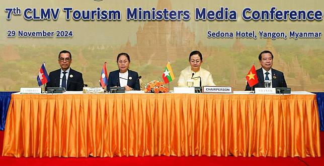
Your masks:
<svg viewBox="0 0 324 166"><path fill-rule="evenodd" d="M316 95L12 95L4 156L320 156Z"/></svg>

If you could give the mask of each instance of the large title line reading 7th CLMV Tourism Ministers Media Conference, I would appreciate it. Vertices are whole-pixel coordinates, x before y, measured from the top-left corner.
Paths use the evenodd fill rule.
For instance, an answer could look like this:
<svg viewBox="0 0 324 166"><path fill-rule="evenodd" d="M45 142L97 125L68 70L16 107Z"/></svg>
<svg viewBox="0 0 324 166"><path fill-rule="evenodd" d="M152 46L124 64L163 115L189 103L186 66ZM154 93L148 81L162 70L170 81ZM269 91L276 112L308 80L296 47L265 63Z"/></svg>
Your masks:
<svg viewBox="0 0 324 166"><path fill-rule="evenodd" d="M13 16L23 15L26 20L57 20L59 13L63 11L65 20L84 20L84 21L120 21L121 12L119 10L102 10L97 8L95 10L74 10L71 7L63 8L26 8L24 10L19 7L6 8L7 20L11 20ZM194 17L196 21L236 21L237 13L234 10L229 10L227 7L220 7L219 10L208 10L206 8L196 8ZM251 8L244 8L241 12L241 17L245 21L321 21L323 14L320 10L278 10L272 7L270 10L253 10ZM157 10L151 8L144 10L142 8L127 8L126 20L128 21L179 21L190 20L191 15L188 10Z"/></svg>

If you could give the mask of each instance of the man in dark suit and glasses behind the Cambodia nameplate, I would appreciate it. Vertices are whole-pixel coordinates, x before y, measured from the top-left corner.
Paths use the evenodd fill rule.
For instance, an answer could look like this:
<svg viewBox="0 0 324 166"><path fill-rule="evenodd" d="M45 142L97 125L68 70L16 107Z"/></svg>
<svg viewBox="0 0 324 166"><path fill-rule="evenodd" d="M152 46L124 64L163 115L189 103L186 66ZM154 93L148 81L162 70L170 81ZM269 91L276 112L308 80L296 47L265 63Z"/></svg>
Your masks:
<svg viewBox="0 0 324 166"><path fill-rule="evenodd" d="M70 68L72 55L63 50L58 54L58 63L61 68L49 73L50 82L47 82L45 90L48 87L64 87L66 91L82 91L84 82L82 73Z"/></svg>

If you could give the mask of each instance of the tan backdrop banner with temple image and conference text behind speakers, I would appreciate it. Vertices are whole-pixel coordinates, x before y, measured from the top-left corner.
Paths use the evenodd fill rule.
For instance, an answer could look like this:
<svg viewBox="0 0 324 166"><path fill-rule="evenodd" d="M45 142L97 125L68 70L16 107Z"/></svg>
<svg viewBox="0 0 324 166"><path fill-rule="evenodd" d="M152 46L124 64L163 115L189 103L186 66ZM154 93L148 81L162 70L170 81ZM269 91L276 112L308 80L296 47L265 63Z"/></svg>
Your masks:
<svg viewBox="0 0 324 166"><path fill-rule="evenodd" d="M177 86L194 50L217 86L244 90L246 74L261 66L260 52L273 53L273 68L284 73L292 91L324 89L322 11L324 2L87 0L1 1L0 90L37 87L45 61L59 69L62 50L85 84L98 87L102 65L117 70L118 53L130 55L130 70L143 84L161 78L171 63ZM5 71L5 72L3 72Z"/></svg>

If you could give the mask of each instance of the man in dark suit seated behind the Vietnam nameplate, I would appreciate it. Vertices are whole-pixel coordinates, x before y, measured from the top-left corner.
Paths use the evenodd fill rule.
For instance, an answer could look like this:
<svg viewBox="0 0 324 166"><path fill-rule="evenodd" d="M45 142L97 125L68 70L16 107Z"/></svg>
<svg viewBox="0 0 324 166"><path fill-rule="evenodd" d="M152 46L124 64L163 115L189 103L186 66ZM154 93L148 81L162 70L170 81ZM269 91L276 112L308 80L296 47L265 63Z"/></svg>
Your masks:
<svg viewBox="0 0 324 166"><path fill-rule="evenodd" d="M265 80L272 81L272 88L287 87L284 74L281 71L272 69L272 60L273 54L270 51L266 50L260 53L259 62L262 67L257 70L259 82L253 86L253 90L254 88L264 88ZM245 90L251 90L249 84L247 84Z"/></svg>

